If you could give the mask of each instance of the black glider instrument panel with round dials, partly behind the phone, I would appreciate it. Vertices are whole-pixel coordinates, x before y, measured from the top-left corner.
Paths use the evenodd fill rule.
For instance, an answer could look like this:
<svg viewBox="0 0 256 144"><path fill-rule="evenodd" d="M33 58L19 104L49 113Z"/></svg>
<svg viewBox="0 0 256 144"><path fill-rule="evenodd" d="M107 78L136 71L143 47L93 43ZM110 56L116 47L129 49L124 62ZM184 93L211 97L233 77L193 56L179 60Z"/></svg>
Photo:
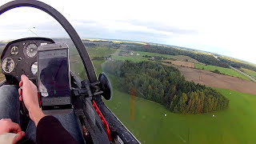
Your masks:
<svg viewBox="0 0 256 144"><path fill-rule="evenodd" d="M55 43L50 38L22 38L9 42L2 51L2 74L18 82L22 74L30 79L38 78L38 46ZM11 77L10 77L11 76Z"/></svg>

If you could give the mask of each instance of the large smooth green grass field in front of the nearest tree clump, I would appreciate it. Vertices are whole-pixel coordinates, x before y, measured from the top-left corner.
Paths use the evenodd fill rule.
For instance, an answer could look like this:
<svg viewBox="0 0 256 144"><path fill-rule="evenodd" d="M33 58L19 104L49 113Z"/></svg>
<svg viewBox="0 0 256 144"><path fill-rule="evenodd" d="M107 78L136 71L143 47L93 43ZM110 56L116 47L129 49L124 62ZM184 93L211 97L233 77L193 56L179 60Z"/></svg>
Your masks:
<svg viewBox="0 0 256 144"><path fill-rule="evenodd" d="M256 141L255 95L217 89L230 99L230 107L210 114L174 114L156 102L136 97L132 120L130 95L117 89L118 78L113 75L109 78L114 97L106 105L142 143L236 144Z"/></svg>

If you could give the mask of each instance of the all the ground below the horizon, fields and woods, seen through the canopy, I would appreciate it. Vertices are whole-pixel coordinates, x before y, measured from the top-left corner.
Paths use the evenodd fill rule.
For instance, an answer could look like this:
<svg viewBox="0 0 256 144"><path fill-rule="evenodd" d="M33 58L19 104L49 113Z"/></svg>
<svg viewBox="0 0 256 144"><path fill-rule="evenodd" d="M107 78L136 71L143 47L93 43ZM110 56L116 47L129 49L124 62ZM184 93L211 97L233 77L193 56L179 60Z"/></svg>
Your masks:
<svg viewBox="0 0 256 144"><path fill-rule="evenodd" d="M70 46L70 69L79 78L87 78L81 58L70 40L57 41ZM98 39L83 39L83 42L97 75L104 71L110 78L113 98L105 101L106 105L140 142L256 142L256 83L229 68L233 66L255 77L256 67L252 64L178 46ZM110 69L111 66L122 68ZM145 66L151 66L150 70ZM165 77L167 82L162 81ZM204 90L214 94L203 97ZM204 111L202 100L198 100L209 97L213 105L208 106L214 107L217 103L218 107L219 101L213 100L214 95L228 102L228 106ZM193 109L188 109L189 99L194 99Z"/></svg>

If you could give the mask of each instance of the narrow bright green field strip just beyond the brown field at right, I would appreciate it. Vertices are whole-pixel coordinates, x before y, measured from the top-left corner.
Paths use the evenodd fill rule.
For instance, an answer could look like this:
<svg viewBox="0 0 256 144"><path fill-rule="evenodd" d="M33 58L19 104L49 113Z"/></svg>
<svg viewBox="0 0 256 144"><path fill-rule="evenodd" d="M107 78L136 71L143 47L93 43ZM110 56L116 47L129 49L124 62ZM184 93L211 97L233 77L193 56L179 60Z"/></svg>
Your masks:
<svg viewBox="0 0 256 144"><path fill-rule="evenodd" d="M210 66L210 65L201 65L201 64L195 64L194 65L196 69L204 69L204 70L210 70L210 71L214 71L214 70L218 70L220 71L222 74L226 74L226 75L230 75L233 77L238 77L238 78L242 78L242 79L246 79L248 81L250 81L250 78L247 78L245 75L238 73L236 70L232 70L229 68L224 68L224 67L219 67L219 66Z"/></svg>

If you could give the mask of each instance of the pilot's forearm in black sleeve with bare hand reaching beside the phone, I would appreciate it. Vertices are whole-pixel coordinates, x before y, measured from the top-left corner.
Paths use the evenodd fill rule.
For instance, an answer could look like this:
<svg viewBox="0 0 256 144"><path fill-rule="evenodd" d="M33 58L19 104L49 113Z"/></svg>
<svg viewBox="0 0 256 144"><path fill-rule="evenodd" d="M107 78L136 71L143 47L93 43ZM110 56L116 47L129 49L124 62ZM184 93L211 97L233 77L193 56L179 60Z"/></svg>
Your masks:
<svg viewBox="0 0 256 144"><path fill-rule="evenodd" d="M42 113L38 104L38 89L34 86L25 75L22 75L19 86L22 90L18 90L19 100L24 101L25 106L30 114L30 119L37 126L36 141L41 143L78 143L62 126L57 118L46 116ZM22 97L21 97L22 94Z"/></svg>

